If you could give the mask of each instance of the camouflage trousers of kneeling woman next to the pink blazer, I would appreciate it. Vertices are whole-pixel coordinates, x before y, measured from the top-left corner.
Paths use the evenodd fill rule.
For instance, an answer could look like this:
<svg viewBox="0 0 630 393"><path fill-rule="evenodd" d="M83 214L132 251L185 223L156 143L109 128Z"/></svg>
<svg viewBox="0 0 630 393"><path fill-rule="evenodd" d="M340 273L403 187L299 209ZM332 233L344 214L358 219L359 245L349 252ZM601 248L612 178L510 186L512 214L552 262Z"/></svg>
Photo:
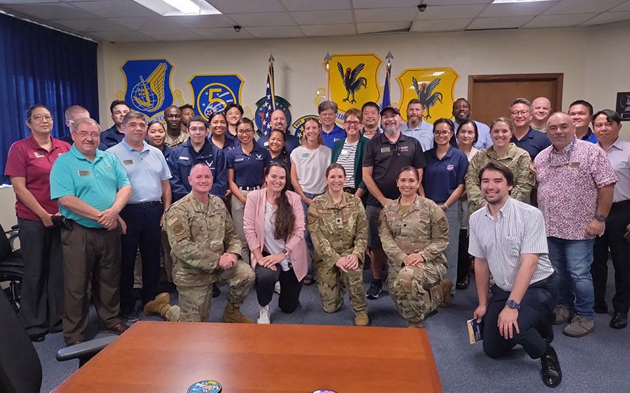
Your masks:
<svg viewBox="0 0 630 393"><path fill-rule="evenodd" d="M363 293L363 262L359 260L356 269L345 273L337 266L327 266L321 259L316 260L315 281L317 289L321 295L321 307L327 313L334 313L343 304L343 293L341 292L341 280L348 290L350 304L355 313L367 311L368 304L366 295Z"/></svg>

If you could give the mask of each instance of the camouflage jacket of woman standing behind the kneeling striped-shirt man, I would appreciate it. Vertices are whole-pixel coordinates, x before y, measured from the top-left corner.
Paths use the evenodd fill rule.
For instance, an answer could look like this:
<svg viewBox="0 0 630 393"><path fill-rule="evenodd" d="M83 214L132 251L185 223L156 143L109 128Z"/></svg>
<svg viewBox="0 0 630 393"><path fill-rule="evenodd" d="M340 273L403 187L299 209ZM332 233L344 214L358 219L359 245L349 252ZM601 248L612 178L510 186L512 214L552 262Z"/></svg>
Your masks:
<svg viewBox="0 0 630 393"><path fill-rule="evenodd" d="M525 202L528 200L532 188L536 185L534 163L532 163L530 154L520 147L516 147L514 143L510 143L510 150L503 157L498 157L492 146L480 150L471 159L468 172L466 173L469 214L476 212L485 205L485 200L481 195L479 171L490 162L501 163L512 170L514 174L514 188L510 197Z"/></svg>

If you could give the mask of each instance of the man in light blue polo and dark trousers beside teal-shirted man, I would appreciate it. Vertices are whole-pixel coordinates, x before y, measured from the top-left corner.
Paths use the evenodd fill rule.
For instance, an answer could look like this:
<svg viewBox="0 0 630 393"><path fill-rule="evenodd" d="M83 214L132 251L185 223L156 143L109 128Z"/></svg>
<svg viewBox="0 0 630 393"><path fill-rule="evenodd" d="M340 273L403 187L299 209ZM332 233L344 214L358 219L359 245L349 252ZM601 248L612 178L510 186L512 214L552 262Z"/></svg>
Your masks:
<svg viewBox="0 0 630 393"><path fill-rule="evenodd" d="M129 202L120 211L127 223L127 233L120 238L122 248L120 270L120 316L127 322L140 319L134 298L134 266L140 248L142 260L141 300L146 315L159 313L163 304L170 303L168 293L159 293L161 223L171 201L170 170L162 152L149 145L147 121L138 112L123 118L125 138L108 153L118 158L132 185Z"/></svg>

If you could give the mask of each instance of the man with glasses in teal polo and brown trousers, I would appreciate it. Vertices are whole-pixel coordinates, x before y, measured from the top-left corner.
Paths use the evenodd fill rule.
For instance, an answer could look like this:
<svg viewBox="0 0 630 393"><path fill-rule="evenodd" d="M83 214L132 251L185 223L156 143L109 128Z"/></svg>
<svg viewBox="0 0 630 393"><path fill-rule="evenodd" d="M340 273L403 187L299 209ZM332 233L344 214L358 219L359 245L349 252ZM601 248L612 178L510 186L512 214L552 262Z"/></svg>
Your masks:
<svg viewBox="0 0 630 393"><path fill-rule="evenodd" d="M98 322L103 331L127 330L120 311L120 232L125 223L118 213L132 193L118 159L97 149L100 126L91 118L75 120L74 145L57 158L51 170L51 199L70 219L62 230L64 252L64 340L85 340L91 282Z"/></svg>

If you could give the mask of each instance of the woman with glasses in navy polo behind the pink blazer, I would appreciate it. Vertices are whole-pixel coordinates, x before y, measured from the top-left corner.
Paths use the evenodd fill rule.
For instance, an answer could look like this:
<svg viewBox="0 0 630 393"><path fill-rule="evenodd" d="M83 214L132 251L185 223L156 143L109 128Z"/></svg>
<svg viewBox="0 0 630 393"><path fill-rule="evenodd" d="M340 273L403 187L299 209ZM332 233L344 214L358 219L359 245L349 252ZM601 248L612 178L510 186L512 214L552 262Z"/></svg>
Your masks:
<svg viewBox="0 0 630 393"><path fill-rule="evenodd" d="M264 181L264 168L271 162L267 149L254 144L254 125L249 118L242 118L236 123L236 135L240 146L226 154L228 168L228 187L232 192L232 220L242 243L243 259L249 264L249 247L243 232L243 214L247 194L260 190Z"/></svg>

